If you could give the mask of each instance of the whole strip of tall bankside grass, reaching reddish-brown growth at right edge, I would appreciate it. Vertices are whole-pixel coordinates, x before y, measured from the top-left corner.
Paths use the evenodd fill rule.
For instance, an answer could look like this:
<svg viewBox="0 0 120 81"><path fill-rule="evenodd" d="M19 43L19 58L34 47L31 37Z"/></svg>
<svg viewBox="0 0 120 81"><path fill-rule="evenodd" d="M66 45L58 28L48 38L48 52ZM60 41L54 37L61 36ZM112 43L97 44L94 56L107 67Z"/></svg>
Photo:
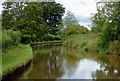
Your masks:
<svg viewBox="0 0 120 81"><path fill-rule="evenodd" d="M71 35L63 39L65 47L79 49L80 51L101 52L106 54L120 55L120 41L112 41L108 47L101 47L101 39L98 34Z"/></svg>

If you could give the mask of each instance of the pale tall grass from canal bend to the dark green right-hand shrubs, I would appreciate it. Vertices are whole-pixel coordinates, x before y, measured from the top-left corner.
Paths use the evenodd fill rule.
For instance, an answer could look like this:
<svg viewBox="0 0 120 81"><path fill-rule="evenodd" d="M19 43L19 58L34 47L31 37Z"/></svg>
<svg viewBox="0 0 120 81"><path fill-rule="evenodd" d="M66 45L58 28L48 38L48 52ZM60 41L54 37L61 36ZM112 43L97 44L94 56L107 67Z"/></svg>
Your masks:
<svg viewBox="0 0 120 81"><path fill-rule="evenodd" d="M96 51L97 41L99 38L96 34L79 34L65 38L63 45L81 51Z"/></svg>

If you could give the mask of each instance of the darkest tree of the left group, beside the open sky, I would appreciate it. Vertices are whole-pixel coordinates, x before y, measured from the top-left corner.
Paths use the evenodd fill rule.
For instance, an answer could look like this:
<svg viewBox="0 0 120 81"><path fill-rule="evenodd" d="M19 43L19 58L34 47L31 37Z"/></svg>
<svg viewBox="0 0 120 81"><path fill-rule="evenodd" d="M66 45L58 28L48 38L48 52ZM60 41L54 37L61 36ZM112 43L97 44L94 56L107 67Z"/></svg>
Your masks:
<svg viewBox="0 0 120 81"><path fill-rule="evenodd" d="M65 13L63 5L55 2L43 2L43 19L49 26L49 33L56 35L62 27L62 16Z"/></svg>

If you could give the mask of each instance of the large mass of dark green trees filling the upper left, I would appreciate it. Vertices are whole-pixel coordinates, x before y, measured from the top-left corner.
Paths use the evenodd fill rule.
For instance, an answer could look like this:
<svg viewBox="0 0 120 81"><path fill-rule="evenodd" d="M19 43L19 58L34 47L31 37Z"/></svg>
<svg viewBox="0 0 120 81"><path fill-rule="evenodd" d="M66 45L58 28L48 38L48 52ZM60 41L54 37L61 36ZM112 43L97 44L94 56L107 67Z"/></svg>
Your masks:
<svg viewBox="0 0 120 81"><path fill-rule="evenodd" d="M20 31L28 43L42 41L47 33L56 35L65 12L56 2L4 2L3 8L3 29Z"/></svg>

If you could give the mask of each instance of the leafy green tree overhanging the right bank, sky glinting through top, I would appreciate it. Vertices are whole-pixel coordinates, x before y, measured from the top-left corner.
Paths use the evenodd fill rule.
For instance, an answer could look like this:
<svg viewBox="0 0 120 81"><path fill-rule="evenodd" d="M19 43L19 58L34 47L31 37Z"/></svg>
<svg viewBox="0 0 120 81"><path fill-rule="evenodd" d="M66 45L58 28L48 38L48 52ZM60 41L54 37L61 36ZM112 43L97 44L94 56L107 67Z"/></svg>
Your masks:
<svg viewBox="0 0 120 81"><path fill-rule="evenodd" d="M99 34L100 47L108 48L110 42L120 41L120 2L97 3L97 11L92 18L92 31Z"/></svg>

